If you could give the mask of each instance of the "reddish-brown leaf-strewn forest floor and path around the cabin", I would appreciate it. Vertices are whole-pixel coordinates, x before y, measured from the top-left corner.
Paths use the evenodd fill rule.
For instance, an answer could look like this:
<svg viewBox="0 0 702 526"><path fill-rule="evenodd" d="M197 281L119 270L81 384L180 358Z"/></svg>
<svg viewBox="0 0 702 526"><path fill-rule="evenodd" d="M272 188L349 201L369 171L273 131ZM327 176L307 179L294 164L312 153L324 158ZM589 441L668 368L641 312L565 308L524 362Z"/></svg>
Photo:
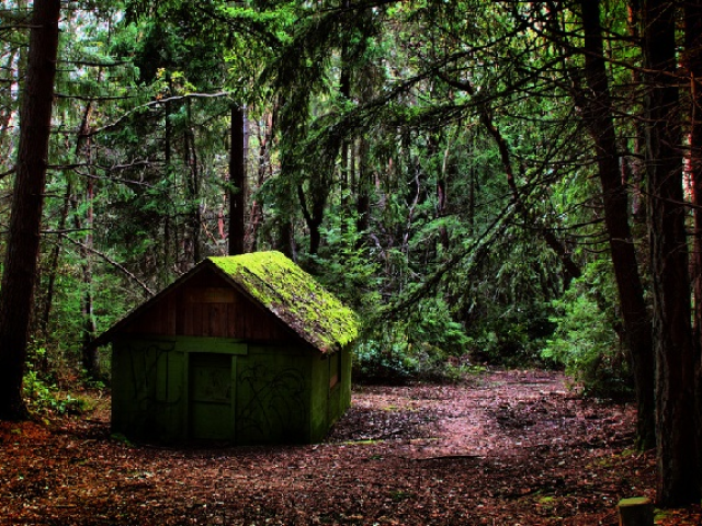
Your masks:
<svg viewBox="0 0 702 526"><path fill-rule="evenodd" d="M360 386L329 438L305 446L131 444L110 435L105 402L0 423L0 524L616 525L620 499L654 496L633 408L582 399L556 373Z"/></svg>

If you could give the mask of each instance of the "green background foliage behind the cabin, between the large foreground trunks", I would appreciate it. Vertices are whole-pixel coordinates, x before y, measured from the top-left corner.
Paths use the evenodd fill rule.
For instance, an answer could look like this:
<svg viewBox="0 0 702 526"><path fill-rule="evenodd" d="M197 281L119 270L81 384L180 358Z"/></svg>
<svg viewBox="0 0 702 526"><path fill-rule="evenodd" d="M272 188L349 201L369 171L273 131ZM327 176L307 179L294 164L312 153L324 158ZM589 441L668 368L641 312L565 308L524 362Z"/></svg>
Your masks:
<svg viewBox="0 0 702 526"><path fill-rule="evenodd" d="M81 5L65 21L50 161L65 168L46 197L47 230L66 233L44 241L45 255L57 249L42 259L49 305L35 309L50 311L36 323L48 351L29 385L77 366L88 295L102 331L144 300L136 279L159 290L226 253L230 111L245 103L247 247L291 254L361 315L360 377L455 378L465 355L545 359L588 386L624 367L611 282L573 283L559 299L568 276L543 239L584 265L602 232L591 145L563 91L582 57L544 36L563 23L581 45L567 5L548 12L557 20L476 0ZM3 67L19 72L13 53ZM615 65L618 101L634 101ZM13 96L0 89L3 107Z"/></svg>

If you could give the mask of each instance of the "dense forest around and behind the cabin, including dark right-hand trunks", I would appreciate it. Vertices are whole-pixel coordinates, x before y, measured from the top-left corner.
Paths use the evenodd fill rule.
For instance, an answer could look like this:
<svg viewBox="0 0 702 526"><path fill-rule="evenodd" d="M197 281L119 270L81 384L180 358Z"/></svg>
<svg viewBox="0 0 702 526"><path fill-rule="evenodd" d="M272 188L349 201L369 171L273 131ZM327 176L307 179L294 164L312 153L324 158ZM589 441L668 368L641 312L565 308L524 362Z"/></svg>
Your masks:
<svg viewBox="0 0 702 526"><path fill-rule="evenodd" d="M0 415L23 376L104 380L90 342L203 258L275 249L361 315L359 374L565 366L635 397L660 503L699 501L701 12L2 2Z"/></svg>

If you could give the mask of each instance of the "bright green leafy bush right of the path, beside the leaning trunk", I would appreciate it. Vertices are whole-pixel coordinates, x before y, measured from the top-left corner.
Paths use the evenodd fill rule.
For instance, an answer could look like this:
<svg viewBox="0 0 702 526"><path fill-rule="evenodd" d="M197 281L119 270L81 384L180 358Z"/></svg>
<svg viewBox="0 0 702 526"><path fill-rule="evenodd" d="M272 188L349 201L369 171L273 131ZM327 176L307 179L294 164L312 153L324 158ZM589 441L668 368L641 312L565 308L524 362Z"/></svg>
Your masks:
<svg viewBox="0 0 702 526"><path fill-rule="evenodd" d="M554 301L557 323L542 355L565 366L582 382L585 392L597 397L632 396L624 356L621 322L616 312L611 262L598 260L573 282L562 299Z"/></svg>

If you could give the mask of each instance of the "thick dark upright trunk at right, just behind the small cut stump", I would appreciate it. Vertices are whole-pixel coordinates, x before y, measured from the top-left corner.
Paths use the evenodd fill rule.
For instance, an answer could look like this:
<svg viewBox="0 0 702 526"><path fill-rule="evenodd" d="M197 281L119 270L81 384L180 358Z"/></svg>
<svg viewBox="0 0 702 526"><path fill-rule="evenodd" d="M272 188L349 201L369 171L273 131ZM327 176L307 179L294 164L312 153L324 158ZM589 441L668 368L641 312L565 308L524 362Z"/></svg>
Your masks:
<svg viewBox="0 0 702 526"><path fill-rule="evenodd" d="M676 10L643 3L646 70L646 170L656 358L657 503L700 500L694 428L694 345L682 194L682 153L675 78Z"/></svg>

